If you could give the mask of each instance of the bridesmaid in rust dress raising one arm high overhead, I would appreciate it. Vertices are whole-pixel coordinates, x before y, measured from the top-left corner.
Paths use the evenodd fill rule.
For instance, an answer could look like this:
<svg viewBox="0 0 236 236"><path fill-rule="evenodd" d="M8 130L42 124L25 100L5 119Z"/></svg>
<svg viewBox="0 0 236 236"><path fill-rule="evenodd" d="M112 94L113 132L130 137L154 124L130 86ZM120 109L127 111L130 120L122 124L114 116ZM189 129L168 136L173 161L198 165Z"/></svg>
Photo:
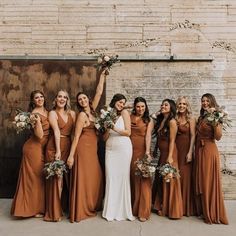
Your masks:
<svg viewBox="0 0 236 236"><path fill-rule="evenodd" d="M69 216L72 223L96 216L96 211L102 207L103 176L97 155L98 138L94 122L95 109L103 93L105 78L106 70L100 75L92 102L82 92L76 96L79 115L67 160L69 168L73 166Z"/></svg>

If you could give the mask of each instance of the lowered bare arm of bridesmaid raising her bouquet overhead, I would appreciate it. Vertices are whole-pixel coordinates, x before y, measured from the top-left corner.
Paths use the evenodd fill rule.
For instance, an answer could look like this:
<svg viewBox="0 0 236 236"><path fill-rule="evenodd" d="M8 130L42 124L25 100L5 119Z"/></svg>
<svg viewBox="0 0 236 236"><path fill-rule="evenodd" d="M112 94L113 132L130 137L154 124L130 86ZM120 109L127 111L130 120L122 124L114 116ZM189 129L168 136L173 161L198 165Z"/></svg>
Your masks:
<svg viewBox="0 0 236 236"><path fill-rule="evenodd" d="M74 164L75 150L76 150L80 135L82 133L83 127L85 125L86 119L87 119L86 114L84 112L80 112L77 117L76 124L75 124L75 135L74 135L73 142L71 144L70 155L67 159L67 165L69 169L71 169Z"/></svg>

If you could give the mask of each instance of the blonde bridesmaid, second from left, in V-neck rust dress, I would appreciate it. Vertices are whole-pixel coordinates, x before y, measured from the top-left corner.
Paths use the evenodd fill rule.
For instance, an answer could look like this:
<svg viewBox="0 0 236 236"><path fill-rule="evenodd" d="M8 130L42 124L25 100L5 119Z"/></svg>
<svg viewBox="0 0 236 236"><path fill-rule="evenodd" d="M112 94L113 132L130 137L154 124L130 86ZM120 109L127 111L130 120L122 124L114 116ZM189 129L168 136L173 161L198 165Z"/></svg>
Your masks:
<svg viewBox="0 0 236 236"><path fill-rule="evenodd" d="M49 112L52 134L46 147L46 162L67 161L71 145L71 133L75 123L75 112L71 110L70 98L66 91L60 90L54 100L53 110ZM69 174L46 180L45 221L61 221L63 210L68 208ZM63 209L63 210L62 210Z"/></svg>

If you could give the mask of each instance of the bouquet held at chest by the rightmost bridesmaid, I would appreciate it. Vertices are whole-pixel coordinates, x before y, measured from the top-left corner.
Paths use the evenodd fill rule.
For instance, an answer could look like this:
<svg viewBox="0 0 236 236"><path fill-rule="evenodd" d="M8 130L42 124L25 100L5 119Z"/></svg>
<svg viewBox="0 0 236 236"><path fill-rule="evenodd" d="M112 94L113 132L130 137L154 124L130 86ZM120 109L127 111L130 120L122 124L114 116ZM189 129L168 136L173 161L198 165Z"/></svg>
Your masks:
<svg viewBox="0 0 236 236"><path fill-rule="evenodd" d="M206 111L205 117L208 123L216 126L217 124L222 124L223 130L227 127L231 127L231 120L228 117L228 113L224 111L224 107L218 109L210 108Z"/></svg>

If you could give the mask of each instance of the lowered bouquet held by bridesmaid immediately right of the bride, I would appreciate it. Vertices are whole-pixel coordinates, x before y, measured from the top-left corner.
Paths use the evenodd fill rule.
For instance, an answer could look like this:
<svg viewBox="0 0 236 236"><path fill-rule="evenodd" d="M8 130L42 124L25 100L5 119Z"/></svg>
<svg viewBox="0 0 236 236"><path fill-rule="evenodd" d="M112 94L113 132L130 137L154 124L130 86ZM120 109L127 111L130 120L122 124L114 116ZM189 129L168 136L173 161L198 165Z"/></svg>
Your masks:
<svg viewBox="0 0 236 236"><path fill-rule="evenodd" d="M157 162L155 159L149 161L147 159L147 156L145 155L141 160L137 160L135 164L135 175L141 176L143 178L149 178L154 176L157 168Z"/></svg>

